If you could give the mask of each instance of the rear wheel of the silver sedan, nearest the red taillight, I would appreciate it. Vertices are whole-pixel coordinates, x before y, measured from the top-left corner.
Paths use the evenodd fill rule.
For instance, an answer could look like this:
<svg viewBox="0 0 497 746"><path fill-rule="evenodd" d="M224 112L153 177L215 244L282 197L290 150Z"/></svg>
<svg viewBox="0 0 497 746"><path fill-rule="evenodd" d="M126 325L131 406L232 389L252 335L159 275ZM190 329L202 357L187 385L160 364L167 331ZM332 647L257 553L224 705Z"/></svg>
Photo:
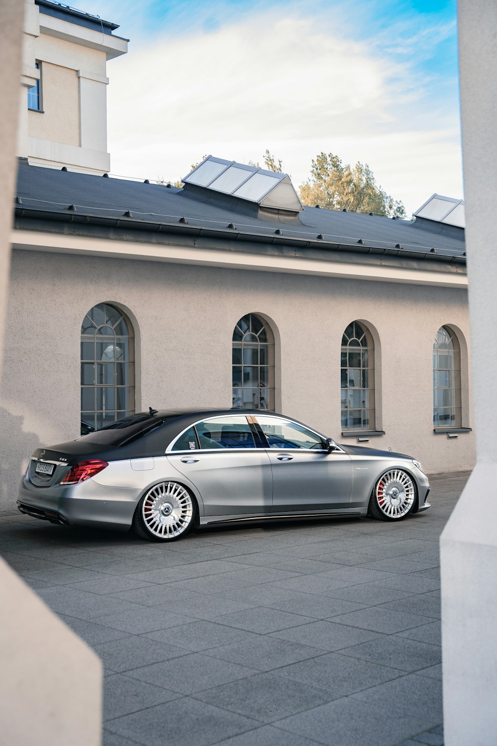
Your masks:
<svg viewBox="0 0 497 746"><path fill-rule="evenodd" d="M182 484L160 482L139 501L133 530L151 542L174 542L191 530L196 510L194 498Z"/></svg>

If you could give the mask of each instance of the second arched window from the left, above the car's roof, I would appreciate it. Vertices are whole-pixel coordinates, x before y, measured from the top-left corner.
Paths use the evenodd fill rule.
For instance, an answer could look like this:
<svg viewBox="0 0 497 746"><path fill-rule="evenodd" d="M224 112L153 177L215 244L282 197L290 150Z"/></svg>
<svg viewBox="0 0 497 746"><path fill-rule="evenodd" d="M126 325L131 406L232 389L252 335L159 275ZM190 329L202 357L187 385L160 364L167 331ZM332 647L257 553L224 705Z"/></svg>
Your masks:
<svg viewBox="0 0 497 746"><path fill-rule="evenodd" d="M233 332L232 405L274 410L274 337L255 313L240 319Z"/></svg>

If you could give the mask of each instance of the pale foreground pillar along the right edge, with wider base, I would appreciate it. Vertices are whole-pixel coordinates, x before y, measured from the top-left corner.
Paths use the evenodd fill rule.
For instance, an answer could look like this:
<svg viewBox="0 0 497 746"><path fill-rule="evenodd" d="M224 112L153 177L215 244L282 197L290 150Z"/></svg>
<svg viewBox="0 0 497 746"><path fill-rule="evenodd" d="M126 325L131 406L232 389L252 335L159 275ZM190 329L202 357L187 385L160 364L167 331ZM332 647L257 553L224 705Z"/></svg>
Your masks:
<svg viewBox="0 0 497 746"><path fill-rule="evenodd" d="M459 0L477 463L440 537L446 746L497 743L497 4Z"/></svg>

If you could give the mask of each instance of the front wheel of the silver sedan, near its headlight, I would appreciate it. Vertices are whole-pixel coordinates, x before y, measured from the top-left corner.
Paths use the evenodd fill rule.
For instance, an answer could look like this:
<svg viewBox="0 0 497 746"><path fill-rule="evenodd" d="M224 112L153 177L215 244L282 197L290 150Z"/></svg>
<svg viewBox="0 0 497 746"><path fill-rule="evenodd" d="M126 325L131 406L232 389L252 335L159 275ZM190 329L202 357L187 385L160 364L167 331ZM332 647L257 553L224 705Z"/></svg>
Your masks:
<svg viewBox="0 0 497 746"><path fill-rule="evenodd" d="M379 521L400 521L414 510L416 488L402 469L390 469L376 482L368 512Z"/></svg>

